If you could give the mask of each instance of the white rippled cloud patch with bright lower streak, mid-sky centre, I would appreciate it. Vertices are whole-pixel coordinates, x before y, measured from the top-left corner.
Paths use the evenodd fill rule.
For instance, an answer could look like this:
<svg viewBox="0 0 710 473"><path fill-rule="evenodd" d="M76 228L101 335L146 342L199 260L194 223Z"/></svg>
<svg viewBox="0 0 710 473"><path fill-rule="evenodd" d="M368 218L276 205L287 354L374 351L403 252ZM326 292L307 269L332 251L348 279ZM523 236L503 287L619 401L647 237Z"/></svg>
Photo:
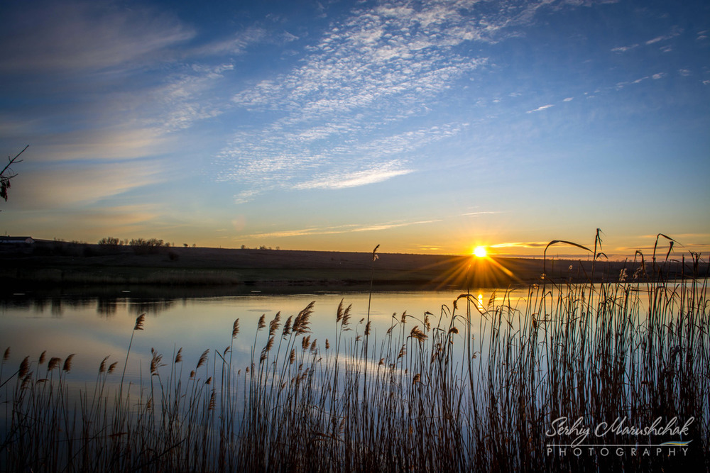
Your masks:
<svg viewBox="0 0 710 473"><path fill-rule="evenodd" d="M220 179L250 186L235 197L238 204L271 189L344 189L385 182L415 172L403 156L467 126L446 123L369 140L351 138L349 146L321 141L331 133L349 133L346 121L291 133L266 131L258 143L244 133L235 138L239 146L223 150L222 160L230 166L220 172Z"/></svg>

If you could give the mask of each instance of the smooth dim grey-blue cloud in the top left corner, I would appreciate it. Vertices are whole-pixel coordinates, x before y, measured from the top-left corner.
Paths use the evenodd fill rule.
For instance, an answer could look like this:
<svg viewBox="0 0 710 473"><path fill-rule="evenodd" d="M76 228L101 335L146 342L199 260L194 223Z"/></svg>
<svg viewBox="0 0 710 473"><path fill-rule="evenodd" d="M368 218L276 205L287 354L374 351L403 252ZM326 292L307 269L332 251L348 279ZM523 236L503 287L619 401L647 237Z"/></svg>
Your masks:
<svg viewBox="0 0 710 473"><path fill-rule="evenodd" d="M170 13L111 8L106 1L39 1L5 14L14 20L0 45L5 73L131 69L195 36ZM28 18L32 28L24 26Z"/></svg>

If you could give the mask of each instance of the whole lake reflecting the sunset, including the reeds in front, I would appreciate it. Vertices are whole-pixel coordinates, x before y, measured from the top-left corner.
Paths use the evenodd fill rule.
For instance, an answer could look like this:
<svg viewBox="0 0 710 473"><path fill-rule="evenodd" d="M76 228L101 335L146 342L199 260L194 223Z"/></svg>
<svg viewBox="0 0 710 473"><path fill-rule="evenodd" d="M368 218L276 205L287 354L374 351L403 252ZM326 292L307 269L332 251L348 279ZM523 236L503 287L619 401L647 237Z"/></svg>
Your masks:
<svg viewBox="0 0 710 473"><path fill-rule="evenodd" d="M690 469L710 458L708 295L706 280L13 294L0 469ZM643 434L582 450L566 422Z"/></svg>

